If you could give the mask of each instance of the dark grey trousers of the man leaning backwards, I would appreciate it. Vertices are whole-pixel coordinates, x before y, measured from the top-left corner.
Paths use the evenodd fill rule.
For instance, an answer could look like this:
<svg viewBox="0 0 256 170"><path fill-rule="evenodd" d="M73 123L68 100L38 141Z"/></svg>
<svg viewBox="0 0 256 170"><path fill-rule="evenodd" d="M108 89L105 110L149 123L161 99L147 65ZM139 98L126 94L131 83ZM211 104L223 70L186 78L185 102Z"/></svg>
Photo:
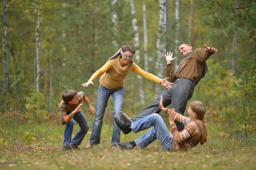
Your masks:
<svg viewBox="0 0 256 170"><path fill-rule="evenodd" d="M186 110L186 105L189 99L192 97L194 92L194 81L187 78L176 78L173 82L172 89L163 89L163 92L154 99L154 101L138 115L132 118L133 121L140 120L141 118L146 117L154 113L161 111L157 101L160 101L161 95L163 95L163 107L167 107L172 104L172 108L175 109L175 112L184 115ZM175 121L178 131L184 129L184 125L180 122Z"/></svg>

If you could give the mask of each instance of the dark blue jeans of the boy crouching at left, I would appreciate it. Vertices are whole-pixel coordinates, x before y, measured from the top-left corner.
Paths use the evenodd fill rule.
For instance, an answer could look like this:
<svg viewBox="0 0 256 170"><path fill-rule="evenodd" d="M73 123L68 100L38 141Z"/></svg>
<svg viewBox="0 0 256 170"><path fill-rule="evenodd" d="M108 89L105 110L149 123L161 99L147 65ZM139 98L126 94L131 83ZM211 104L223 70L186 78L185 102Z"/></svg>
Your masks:
<svg viewBox="0 0 256 170"><path fill-rule="evenodd" d="M67 115L69 114L70 112L67 112ZM71 140L74 120L79 124L80 129L77 131L76 135ZM74 115L74 117L71 118L70 121L66 123L65 130L64 130L63 147L70 147L74 145L79 146L89 129L90 127L86 118L84 117L84 114L82 112L77 112Z"/></svg>

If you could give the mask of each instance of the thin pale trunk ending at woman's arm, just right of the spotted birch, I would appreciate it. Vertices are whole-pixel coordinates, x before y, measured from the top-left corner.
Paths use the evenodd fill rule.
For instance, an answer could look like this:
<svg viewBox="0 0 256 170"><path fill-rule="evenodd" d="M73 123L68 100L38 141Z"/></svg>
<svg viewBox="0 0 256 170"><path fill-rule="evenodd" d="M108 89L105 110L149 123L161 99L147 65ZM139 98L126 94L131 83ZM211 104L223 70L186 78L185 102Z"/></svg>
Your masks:
<svg viewBox="0 0 256 170"><path fill-rule="evenodd" d="M147 34L147 17L146 17L146 4L145 0L142 2L143 8L143 42L144 42L144 62L145 62L145 72L148 72L148 34Z"/></svg>

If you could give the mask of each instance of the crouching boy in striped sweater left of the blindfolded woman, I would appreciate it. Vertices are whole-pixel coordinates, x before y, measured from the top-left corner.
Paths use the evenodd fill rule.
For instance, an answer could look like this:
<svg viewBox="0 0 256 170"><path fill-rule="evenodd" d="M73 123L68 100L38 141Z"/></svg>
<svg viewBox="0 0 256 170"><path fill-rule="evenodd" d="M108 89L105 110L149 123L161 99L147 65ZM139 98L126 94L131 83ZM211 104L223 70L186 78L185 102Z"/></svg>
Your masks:
<svg viewBox="0 0 256 170"><path fill-rule="evenodd" d="M89 112L95 115L96 111L90 104L89 99L84 92L76 92L75 90L66 90L62 95L61 103L58 105L61 112L61 124L65 125L63 151L71 149L79 149L79 145L89 130L89 124L80 109L82 101L88 106ZM73 132L74 120L79 124L80 129L71 140Z"/></svg>

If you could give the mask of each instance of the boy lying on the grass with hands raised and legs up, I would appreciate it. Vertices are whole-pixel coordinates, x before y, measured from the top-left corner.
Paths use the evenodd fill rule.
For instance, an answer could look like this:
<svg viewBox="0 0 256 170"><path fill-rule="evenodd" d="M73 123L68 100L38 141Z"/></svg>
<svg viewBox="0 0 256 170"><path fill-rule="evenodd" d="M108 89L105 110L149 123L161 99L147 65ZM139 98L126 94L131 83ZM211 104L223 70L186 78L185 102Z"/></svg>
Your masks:
<svg viewBox="0 0 256 170"><path fill-rule="evenodd" d="M135 146L143 149L155 141L157 138L160 141L160 145L163 150L177 151L177 150L188 150L189 148L195 147L196 145L204 144L207 141L208 125L204 121L204 114L206 108L201 101L192 101L189 104L189 118L180 115L175 112L175 109L167 109L163 107L163 96L158 101L159 107L167 115L169 115L169 123L172 134L169 133L163 118L154 113L142 118L134 123L127 123L119 118L115 117L116 125L122 130L124 134L128 134L131 131L138 133L142 130L146 130L149 127L153 127L144 135L140 136L135 141L131 142L118 142L116 145L123 150L130 150ZM179 132L174 121L186 125L184 130Z"/></svg>

